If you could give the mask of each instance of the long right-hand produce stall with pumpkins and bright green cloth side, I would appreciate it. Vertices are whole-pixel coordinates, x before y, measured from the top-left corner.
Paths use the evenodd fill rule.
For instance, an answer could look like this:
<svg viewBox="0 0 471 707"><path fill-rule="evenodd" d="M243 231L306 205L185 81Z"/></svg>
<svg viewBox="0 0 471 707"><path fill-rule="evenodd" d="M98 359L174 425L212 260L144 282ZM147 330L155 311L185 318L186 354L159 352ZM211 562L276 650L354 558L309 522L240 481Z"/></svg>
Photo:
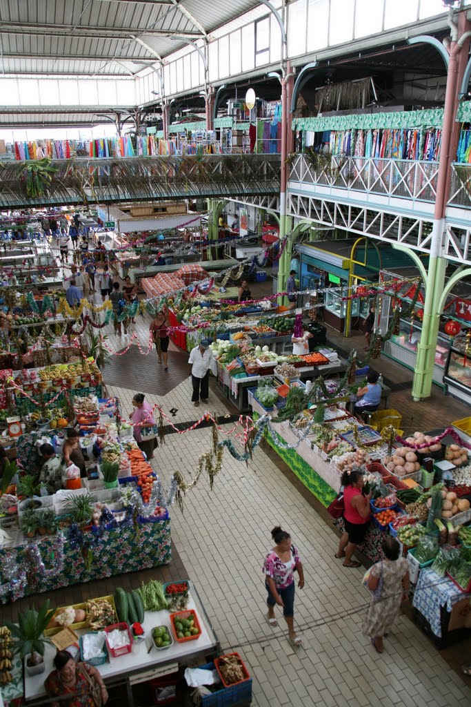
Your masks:
<svg viewBox="0 0 471 707"><path fill-rule="evenodd" d="M286 397L284 388L278 388L278 394ZM263 407L258 400L263 397L261 390L277 392L275 387L249 392L254 419L267 412L274 419L268 443L323 506L337 497L343 471L362 469L375 500L371 501L369 528L358 546L359 553L371 562L380 561L384 534L397 537L409 561L411 583L417 586L413 602L417 623L439 647L461 640L465 619L457 616L454 607L462 607L463 600L469 603L471 597L471 448L464 446L469 444L471 418L453 423L462 443L450 436L448 429L439 440L415 432L404 443L396 438L389 454L388 442L378 430L387 428L388 420L393 419L399 426L397 411L378 416L378 429L374 429L359 426L332 401L323 412L322 428L310 432L309 414L314 426L315 411L303 411L291 421L277 423L280 399L276 402L275 395L268 396L273 407ZM403 446L405 443L422 446L417 450ZM432 511L438 520L432 518L427 525ZM342 517L333 520L333 525L344 532ZM441 567L440 577L434 572L436 567Z"/></svg>

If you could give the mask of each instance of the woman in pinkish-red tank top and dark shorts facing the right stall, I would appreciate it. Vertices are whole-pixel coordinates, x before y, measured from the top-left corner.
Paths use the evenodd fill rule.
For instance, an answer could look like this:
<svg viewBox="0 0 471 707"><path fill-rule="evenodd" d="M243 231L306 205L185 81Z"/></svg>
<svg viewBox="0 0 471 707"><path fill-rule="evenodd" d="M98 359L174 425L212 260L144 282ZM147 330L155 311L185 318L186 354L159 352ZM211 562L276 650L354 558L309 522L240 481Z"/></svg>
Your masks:
<svg viewBox="0 0 471 707"><path fill-rule="evenodd" d="M364 541L366 529L368 527L370 508L369 501L371 492L363 496L363 474L362 472L344 472L342 475L343 501L345 510L343 518L345 521L345 532L340 538L338 551L335 557L345 557L344 567L359 567L360 563L352 561L352 554L357 549L357 545Z"/></svg>

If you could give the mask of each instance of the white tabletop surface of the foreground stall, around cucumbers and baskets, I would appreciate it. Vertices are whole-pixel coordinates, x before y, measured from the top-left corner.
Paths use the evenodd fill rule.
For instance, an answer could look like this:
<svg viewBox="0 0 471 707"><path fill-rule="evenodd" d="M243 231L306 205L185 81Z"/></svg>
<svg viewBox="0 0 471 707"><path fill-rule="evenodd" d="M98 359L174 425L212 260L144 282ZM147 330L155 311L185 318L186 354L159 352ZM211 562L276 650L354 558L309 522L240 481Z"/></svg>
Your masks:
<svg viewBox="0 0 471 707"><path fill-rule="evenodd" d="M219 641L208 614L205 612L196 587L190 580L186 580L186 582L189 586L188 610L196 614L201 628L198 637L195 640L179 642L171 628L170 612L167 609L158 612L145 611L143 621L141 621L143 636L140 637L141 640L134 638L131 643L131 652L123 653L115 658L113 655L109 655L108 650L106 662L96 666L105 684L112 684L113 687L120 684L126 685L129 699L132 699L133 684L147 680L150 681L149 689L153 689L153 686L159 682L156 679L157 676L165 674L166 666L170 669L171 667L178 668L179 665L201 665L206 662L208 657L213 658L217 655ZM165 626L172 638L171 645L165 649L157 649L153 643L153 629L157 626ZM78 636L84 636L87 629L77 629L76 633ZM46 645L44 672L39 675L25 675L26 701L38 700L46 696L44 679L54 669L55 653L56 647L54 645Z"/></svg>

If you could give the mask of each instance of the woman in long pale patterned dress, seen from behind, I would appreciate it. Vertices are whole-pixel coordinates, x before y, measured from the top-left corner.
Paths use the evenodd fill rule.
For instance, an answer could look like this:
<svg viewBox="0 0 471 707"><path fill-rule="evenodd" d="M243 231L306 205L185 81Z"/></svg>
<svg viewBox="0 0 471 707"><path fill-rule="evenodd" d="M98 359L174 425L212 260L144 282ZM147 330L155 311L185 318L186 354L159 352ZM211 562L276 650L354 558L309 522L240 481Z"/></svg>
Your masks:
<svg viewBox="0 0 471 707"><path fill-rule="evenodd" d="M395 538L386 535L382 549L384 559L371 567L367 582L371 592L376 592L381 585L380 590L378 595L371 597L363 621L364 636L371 638L378 653L383 653L383 636L388 635L401 602L407 600L409 590L409 569L407 560L400 556L400 544Z"/></svg>

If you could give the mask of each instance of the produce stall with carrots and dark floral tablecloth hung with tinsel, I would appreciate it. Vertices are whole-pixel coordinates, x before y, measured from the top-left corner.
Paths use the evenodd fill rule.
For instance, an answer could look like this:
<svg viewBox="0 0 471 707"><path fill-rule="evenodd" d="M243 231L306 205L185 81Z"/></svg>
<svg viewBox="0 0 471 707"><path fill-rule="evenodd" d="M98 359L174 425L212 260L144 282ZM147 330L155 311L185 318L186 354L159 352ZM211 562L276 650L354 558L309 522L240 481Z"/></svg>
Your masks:
<svg viewBox="0 0 471 707"><path fill-rule="evenodd" d="M74 397L73 410L82 434L82 477L61 459L61 428L71 425L70 414L57 419L51 411L44 429L17 438L25 472L11 465L0 497L3 603L170 560L165 493L129 436L129 423L114 417L116 402L89 394ZM42 443L56 450L50 472L43 471L49 467L38 452Z"/></svg>

